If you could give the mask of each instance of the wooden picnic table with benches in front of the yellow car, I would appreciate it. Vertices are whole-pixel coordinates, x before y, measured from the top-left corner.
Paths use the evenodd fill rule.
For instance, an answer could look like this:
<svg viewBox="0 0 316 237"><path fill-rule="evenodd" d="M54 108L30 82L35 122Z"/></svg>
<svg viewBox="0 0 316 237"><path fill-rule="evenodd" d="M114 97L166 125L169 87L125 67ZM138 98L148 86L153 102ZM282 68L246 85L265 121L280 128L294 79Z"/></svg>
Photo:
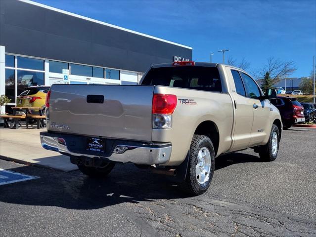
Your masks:
<svg viewBox="0 0 316 237"><path fill-rule="evenodd" d="M19 128L19 120L23 119L23 118L25 118L27 128L29 127L29 119L31 119L31 118L37 120L37 128L45 127L45 123L44 123L45 116L43 115L43 110L45 108L43 108L43 107L11 107L11 109L13 110L12 115L2 115L1 116L1 118L3 118L3 120L4 120L4 127L9 127L9 128L15 127L15 129L18 129ZM25 115L17 115L16 114L17 111L23 111L25 113ZM34 115L34 114L32 114L31 111L38 111L39 115ZM9 118L12 118L10 126L7 123L7 120ZM13 126L12 126L12 122L14 122Z"/></svg>

